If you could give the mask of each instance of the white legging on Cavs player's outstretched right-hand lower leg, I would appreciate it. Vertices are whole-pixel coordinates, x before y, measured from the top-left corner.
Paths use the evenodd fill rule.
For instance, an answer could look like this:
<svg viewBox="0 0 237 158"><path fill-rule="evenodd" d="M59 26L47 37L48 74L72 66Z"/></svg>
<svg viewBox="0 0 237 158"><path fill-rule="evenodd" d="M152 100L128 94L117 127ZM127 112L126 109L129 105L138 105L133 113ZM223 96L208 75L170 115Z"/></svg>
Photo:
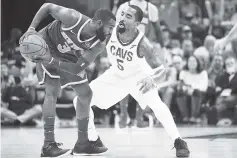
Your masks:
<svg viewBox="0 0 237 158"><path fill-rule="evenodd" d="M171 139L175 141L175 139L179 138L180 134L169 108L162 101L159 101L158 105L150 106L150 108L153 110L156 118L162 123Z"/></svg>

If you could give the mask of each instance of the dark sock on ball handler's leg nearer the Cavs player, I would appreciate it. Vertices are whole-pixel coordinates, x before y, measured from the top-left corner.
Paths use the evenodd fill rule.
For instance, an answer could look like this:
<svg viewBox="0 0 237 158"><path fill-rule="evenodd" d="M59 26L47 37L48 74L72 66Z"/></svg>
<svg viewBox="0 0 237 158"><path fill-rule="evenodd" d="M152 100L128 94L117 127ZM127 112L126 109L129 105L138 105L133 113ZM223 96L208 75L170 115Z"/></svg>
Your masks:
<svg viewBox="0 0 237 158"><path fill-rule="evenodd" d="M77 119L78 139L77 143L85 143L88 141L88 123L89 118Z"/></svg>

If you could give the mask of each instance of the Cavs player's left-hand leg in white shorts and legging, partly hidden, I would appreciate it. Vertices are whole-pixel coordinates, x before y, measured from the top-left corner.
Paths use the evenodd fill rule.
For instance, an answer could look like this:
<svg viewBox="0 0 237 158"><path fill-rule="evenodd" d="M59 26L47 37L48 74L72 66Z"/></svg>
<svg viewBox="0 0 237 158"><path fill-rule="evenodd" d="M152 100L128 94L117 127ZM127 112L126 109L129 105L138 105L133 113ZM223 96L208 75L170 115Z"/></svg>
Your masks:
<svg viewBox="0 0 237 158"><path fill-rule="evenodd" d="M113 74L114 73L109 69L90 83L93 93L90 104L91 106L95 105L100 109L108 109L128 95L128 91L123 88L124 85L122 84L122 80ZM77 98L74 98L74 106L76 102ZM88 126L89 140L97 140L98 133L95 129L94 113L92 109Z"/></svg>

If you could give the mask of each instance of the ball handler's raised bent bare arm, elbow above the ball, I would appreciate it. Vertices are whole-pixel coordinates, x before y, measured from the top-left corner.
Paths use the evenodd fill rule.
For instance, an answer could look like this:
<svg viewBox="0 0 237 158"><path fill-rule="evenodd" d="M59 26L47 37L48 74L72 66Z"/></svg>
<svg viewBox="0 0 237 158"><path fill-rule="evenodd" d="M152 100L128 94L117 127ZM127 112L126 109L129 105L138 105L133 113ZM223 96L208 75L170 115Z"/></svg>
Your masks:
<svg viewBox="0 0 237 158"><path fill-rule="evenodd" d="M61 21L65 27L70 27L78 21L78 17L81 13L74 9L69 9L56 4L44 3L33 18L30 28L37 28L40 22L49 14L56 20Z"/></svg>

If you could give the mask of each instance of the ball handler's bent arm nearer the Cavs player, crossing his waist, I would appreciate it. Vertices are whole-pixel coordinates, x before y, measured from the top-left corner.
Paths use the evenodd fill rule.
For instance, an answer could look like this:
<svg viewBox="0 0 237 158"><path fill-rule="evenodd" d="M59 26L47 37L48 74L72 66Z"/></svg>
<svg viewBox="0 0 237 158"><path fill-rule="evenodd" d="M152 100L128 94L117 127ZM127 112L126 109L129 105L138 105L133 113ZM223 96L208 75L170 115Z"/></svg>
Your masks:
<svg viewBox="0 0 237 158"><path fill-rule="evenodd" d="M48 64L71 74L79 74L81 71L85 70L85 68L88 67L104 49L105 42L99 42L90 50L85 50L78 58L77 63L61 62L60 60L52 58Z"/></svg>

